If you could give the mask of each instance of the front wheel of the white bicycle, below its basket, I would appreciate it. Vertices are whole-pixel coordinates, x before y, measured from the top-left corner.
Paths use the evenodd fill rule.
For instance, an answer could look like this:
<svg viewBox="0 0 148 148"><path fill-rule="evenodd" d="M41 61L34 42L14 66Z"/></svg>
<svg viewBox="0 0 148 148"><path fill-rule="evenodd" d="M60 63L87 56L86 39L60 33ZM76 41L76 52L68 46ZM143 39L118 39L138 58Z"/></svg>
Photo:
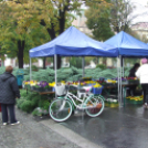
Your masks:
<svg viewBox="0 0 148 148"><path fill-rule="evenodd" d="M59 98L51 103L49 112L53 120L64 121L72 115L72 104L64 98Z"/></svg>

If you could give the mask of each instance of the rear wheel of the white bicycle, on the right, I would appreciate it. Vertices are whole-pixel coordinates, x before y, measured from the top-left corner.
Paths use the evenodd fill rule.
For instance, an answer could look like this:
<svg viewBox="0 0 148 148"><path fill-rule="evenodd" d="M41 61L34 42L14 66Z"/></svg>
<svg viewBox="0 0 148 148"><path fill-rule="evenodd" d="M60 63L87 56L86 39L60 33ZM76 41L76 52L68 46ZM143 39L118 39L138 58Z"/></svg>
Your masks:
<svg viewBox="0 0 148 148"><path fill-rule="evenodd" d="M101 96L92 96L87 102L86 106L88 107L85 109L86 114L89 117L97 117L104 110L104 101Z"/></svg>

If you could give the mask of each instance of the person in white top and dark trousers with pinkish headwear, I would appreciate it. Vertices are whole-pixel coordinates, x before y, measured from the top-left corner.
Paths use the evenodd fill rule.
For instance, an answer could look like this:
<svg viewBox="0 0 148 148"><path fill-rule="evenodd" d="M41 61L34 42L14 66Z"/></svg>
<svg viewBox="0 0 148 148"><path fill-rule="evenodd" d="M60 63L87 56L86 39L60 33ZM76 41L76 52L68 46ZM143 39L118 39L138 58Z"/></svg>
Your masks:
<svg viewBox="0 0 148 148"><path fill-rule="evenodd" d="M135 75L140 80L144 91L144 107L148 108L148 63L147 59L141 60L141 66L137 70Z"/></svg>

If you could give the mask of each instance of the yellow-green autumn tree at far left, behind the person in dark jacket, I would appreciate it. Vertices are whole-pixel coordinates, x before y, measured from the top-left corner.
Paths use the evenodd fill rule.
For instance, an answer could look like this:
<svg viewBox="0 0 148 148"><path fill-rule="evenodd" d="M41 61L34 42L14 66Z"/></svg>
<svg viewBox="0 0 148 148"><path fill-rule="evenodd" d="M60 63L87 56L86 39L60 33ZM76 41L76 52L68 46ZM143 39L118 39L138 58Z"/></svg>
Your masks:
<svg viewBox="0 0 148 148"><path fill-rule="evenodd" d="M29 47L42 44L47 41L46 39L50 40L46 31L39 23L40 15L36 15L36 10L41 8L42 3L33 0L8 0L0 3L1 52L11 57L17 55L19 67L23 67L24 55L28 57ZM31 34L35 36L31 38ZM34 42L36 38L38 41Z"/></svg>

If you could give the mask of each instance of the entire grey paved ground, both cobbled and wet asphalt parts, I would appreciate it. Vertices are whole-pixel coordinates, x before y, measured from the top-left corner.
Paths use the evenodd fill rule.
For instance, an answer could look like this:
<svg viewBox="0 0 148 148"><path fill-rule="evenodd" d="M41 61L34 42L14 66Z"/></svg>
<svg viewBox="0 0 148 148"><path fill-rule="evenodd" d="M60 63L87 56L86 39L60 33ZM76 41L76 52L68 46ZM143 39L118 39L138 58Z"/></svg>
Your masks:
<svg viewBox="0 0 148 148"><path fill-rule="evenodd" d="M148 110L141 105L107 108L99 117L75 113L64 123L17 109L17 126L2 126L0 148L147 148ZM83 142L83 144L82 144Z"/></svg>

